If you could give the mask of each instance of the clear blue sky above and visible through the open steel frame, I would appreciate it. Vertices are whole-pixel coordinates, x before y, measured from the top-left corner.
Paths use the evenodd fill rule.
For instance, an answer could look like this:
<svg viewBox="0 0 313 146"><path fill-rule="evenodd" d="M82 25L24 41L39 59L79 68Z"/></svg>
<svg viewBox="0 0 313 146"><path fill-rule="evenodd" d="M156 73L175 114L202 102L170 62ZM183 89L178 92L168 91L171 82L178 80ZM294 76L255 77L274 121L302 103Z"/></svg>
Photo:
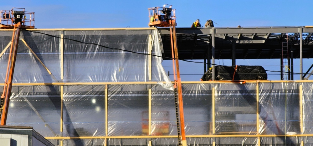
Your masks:
<svg viewBox="0 0 313 146"><path fill-rule="evenodd" d="M313 1L305 0L15 0L2 1L0 10L17 7L35 12L36 28L142 28L148 27L148 8L164 4L172 4L176 9L177 27L190 27L196 19L202 25L212 19L218 23L215 27L313 25ZM231 65L230 60L216 63ZM269 70L280 70L279 63L278 59L237 60L238 65L262 65ZM304 60L304 72L311 63L312 60ZM163 63L172 72L169 64ZM181 67L182 73L203 73L203 64L181 62ZM299 60L295 60L295 72L299 68ZM199 80L201 76L182 76L182 80ZM269 79L279 77L269 76ZM295 79L299 77L295 75Z"/></svg>

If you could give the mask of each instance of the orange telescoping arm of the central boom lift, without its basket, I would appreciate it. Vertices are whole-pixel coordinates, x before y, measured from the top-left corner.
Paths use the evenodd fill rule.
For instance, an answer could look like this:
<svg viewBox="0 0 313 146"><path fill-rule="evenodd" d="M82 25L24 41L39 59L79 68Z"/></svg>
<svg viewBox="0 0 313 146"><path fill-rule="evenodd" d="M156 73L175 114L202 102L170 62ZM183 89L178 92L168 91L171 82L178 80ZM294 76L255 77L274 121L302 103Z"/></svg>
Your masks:
<svg viewBox="0 0 313 146"><path fill-rule="evenodd" d="M178 105L179 105L179 118L180 118L180 129L182 134L182 142L186 142L186 134L185 134L185 120L184 120L184 108L182 102L182 83L179 72L179 63L178 63L178 49L177 49L177 36L176 36L176 22L172 20L173 27L173 42L174 42L174 53L175 53L175 61L176 61L176 71L177 71L177 90L178 90ZM186 143L185 143L186 144Z"/></svg>

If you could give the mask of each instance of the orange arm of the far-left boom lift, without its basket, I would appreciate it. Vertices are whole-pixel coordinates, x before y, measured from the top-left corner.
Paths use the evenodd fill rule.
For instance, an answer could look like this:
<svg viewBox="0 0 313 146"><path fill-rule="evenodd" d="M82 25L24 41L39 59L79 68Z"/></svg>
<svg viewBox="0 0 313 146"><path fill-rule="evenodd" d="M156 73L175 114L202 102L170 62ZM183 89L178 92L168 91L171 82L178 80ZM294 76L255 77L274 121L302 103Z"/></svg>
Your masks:
<svg viewBox="0 0 313 146"><path fill-rule="evenodd" d="M9 108L8 105L9 105L10 96L11 96L13 73L14 73L16 54L17 54L17 49L18 49L18 41L19 41L19 36L20 36L19 28L21 27L21 23L19 22L17 24L14 24L14 27L15 28L13 30L12 44L10 48L5 86L3 88L3 94L1 95L1 98L3 98L4 101L3 101L3 107L2 107L3 110L1 113L0 125L5 125L7 122L8 108Z"/></svg>

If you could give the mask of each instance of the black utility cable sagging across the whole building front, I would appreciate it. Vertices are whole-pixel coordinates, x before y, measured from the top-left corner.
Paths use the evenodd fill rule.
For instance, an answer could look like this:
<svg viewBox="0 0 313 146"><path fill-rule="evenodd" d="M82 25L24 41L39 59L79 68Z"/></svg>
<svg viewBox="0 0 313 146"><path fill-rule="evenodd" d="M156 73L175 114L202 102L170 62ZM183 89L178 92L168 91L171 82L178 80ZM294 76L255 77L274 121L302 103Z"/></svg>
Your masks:
<svg viewBox="0 0 313 146"><path fill-rule="evenodd" d="M0 23L0 24L2 24L2 23ZM14 26L6 25L6 24L2 24L2 25L16 28ZM27 30L25 28L20 28L20 29L24 30L24 31L32 32L32 33L39 33L39 34L47 35L47 36L54 37L54 38L61 38L61 37L54 36L54 35L47 34L47 33L41 33L41 32L37 32L37 31ZM63 39L67 39L67 40L78 42L78 43L85 43L85 44L90 44L90 45L96 45L96 46L100 46L100 47L108 48L108 49L112 49L112 50L120 50L120 51L125 51L125 52L130 52L130 53L141 54L141 55L150 55L150 56L154 56L154 57L161 57L161 58L167 58L167 59L177 59L177 60L181 60L181 61L185 61L185 62L202 63L202 64L208 64L208 65L211 64L211 65L215 65L215 66L223 66L223 67L232 67L233 68L233 66L227 66L227 65L219 65L219 64L213 64L213 63L204 63L204 62L199 62L199 61L190 61L190 60L186 60L186 59L165 57L165 56L159 56L159 55L148 54L148 53L139 53L139 52L130 51L130 50L124 50L124 49L120 49L120 48L111 48L111 47L107 47L107 46L100 45L100 44L97 44L97 43L83 42L83 41L79 41L79 40L75 40L75 39L71 39L71 38L63 38ZM237 67L237 68L251 69L251 70L260 70L260 69L255 69L255 68L244 68L244 67ZM265 71L267 71L267 72L277 72L277 73L288 73L288 72L285 72L285 71L276 71L276 70L265 70ZM304 74L304 73L294 73L294 74ZM307 73L307 74L313 75L313 73Z"/></svg>

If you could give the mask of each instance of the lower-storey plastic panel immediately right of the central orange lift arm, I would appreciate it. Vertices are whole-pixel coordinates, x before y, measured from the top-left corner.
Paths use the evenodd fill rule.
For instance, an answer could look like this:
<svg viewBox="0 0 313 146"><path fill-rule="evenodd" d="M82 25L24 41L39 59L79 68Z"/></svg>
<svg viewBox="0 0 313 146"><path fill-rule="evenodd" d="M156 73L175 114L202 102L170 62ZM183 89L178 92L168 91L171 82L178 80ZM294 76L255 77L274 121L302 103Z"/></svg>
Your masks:
<svg viewBox="0 0 313 146"><path fill-rule="evenodd" d="M214 86L213 86L214 87ZM182 84L185 132L212 134L212 84Z"/></svg>

